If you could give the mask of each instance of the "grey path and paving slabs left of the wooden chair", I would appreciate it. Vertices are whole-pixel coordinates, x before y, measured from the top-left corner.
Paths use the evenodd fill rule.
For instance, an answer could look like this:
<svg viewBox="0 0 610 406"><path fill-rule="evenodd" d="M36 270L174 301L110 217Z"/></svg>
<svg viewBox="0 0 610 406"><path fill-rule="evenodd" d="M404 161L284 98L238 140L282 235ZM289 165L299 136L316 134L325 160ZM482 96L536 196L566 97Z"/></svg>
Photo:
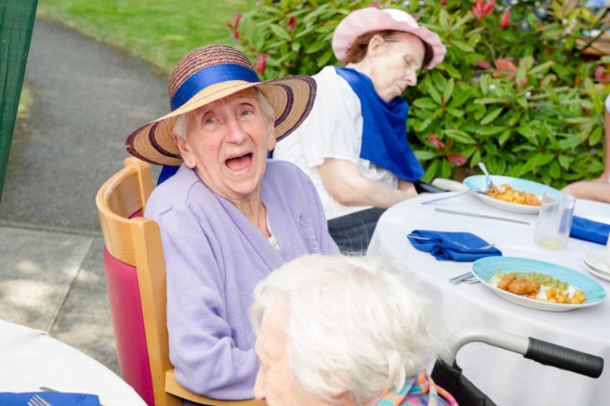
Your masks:
<svg viewBox="0 0 610 406"><path fill-rule="evenodd" d="M34 103L15 128L0 202L0 319L117 373L95 193L128 157L128 132L168 110L166 81L120 49L37 20Z"/></svg>

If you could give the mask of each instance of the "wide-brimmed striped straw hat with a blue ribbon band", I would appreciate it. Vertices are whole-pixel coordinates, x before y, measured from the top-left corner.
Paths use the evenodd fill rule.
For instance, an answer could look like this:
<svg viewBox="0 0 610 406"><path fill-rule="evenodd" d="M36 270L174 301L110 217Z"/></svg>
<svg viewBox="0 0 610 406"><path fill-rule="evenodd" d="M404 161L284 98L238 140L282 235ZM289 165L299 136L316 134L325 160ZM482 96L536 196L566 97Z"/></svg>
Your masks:
<svg viewBox="0 0 610 406"><path fill-rule="evenodd" d="M316 82L309 76L261 82L248 58L235 48L202 46L186 54L171 72L171 112L129 134L125 141L128 153L146 162L179 165L182 158L171 137L177 117L249 87L258 88L276 112L277 140L299 127L316 96Z"/></svg>

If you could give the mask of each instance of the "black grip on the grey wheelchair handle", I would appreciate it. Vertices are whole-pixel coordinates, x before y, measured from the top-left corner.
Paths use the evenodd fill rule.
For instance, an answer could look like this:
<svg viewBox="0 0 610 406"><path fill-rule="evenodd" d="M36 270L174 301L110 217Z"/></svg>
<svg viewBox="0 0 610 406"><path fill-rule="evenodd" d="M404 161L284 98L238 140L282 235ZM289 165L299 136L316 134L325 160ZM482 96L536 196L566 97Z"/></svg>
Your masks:
<svg viewBox="0 0 610 406"><path fill-rule="evenodd" d="M604 370L604 359L587 352L528 337L527 352L523 357L544 365L565 369L587 377L599 377Z"/></svg>

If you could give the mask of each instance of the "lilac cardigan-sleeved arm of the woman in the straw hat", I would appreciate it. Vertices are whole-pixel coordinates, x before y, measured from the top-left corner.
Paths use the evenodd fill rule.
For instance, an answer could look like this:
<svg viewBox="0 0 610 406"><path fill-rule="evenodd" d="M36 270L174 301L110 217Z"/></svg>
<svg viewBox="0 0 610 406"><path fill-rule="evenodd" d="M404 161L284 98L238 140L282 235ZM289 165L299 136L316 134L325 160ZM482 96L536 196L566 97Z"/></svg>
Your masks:
<svg viewBox="0 0 610 406"><path fill-rule="evenodd" d="M169 357L177 381L197 394L248 399L259 362L252 348L240 348L227 322L222 259L214 241L185 206L161 215L167 265ZM217 247L218 248L218 247Z"/></svg>

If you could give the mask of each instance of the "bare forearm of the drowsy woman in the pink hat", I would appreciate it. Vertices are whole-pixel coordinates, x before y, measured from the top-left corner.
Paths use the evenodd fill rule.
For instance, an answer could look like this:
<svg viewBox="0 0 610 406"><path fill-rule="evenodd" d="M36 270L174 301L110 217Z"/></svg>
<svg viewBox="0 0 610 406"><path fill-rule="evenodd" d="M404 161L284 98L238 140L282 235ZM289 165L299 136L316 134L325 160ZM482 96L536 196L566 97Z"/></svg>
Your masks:
<svg viewBox="0 0 610 406"><path fill-rule="evenodd" d="M375 206L387 209L417 195L415 187L392 189L363 177L358 166L349 161L326 158L317 167L328 194L345 206Z"/></svg>

